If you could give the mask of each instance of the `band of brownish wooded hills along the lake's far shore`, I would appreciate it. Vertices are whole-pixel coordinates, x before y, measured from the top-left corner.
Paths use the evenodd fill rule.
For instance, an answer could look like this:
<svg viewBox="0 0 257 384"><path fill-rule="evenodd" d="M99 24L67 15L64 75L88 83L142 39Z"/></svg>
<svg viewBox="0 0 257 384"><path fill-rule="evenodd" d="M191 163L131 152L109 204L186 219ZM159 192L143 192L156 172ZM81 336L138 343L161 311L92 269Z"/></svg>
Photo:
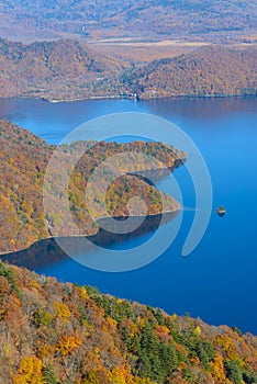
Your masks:
<svg viewBox="0 0 257 384"><path fill-rule="evenodd" d="M0 39L0 97L90 98L245 95L257 91L257 49L203 46L142 65L74 41L24 45Z"/></svg>

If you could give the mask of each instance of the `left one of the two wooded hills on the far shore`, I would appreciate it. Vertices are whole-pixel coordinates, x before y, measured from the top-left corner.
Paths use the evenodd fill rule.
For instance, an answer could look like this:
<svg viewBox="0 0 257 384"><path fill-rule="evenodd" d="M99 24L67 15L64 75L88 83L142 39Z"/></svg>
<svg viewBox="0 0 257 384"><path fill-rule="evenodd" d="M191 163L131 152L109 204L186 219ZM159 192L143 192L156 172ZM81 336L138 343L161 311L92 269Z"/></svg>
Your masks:
<svg viewBox="0 0 257 384"><path fill-rule="evenodd" d="M70 39L25 45L0 38L0 97L78 99L97 93L102 79L124 69L123 63Z"/></svg>

